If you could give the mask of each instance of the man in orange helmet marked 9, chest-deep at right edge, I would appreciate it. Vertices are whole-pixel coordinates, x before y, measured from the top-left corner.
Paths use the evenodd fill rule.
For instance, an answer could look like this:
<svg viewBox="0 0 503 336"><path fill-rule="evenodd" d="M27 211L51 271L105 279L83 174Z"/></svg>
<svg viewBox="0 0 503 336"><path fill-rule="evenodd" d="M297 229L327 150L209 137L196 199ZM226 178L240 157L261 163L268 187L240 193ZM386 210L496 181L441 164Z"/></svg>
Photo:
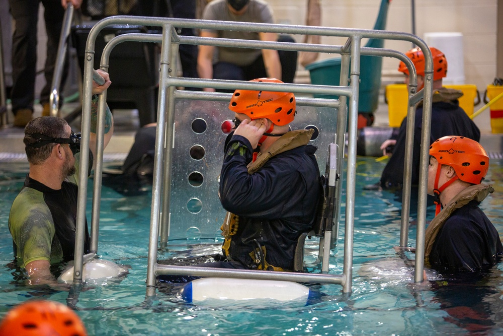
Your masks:
<svg viewBox="0 0 503 336"><path fill-rule="evenodd" d="M483 271L503 255L496 228L478 207L494 191L482 184L488 168L489 157L474 140L447 136L430 147L428 193L437 207L426 230L425 261L439 272Z"/></svg>

